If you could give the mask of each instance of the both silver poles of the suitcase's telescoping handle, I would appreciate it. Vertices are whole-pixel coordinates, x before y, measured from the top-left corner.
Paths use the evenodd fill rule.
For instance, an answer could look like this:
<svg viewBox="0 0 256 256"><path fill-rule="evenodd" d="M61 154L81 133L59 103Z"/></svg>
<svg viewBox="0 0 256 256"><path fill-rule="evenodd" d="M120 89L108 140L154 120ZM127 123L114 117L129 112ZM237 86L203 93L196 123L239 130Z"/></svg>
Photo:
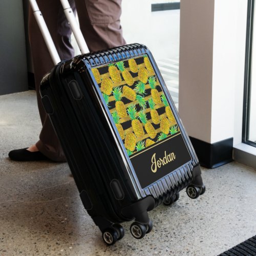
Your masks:
<svg viewBox="0 0 256 256"><path fill-rule="evenodd" d="M56 47L54 45L54 42L52 40L52 37L50 35L50 32L47 28L47 25L45 23L44 17L42 16L42 14L38 8L36 0L29 0L29 2L31 5L31 8L33 10L33 13L35 15L36 22L40 28L41 33L42 33L42 36L45 39L45 42L46 42L47 48L50 52L50 55L52 57L53 63L54 63L54 65L56 65L58 62L60 62L60 58L59 58L58 52L56 50ZM77 41L77 45L79 46L81 53L87 53L86 41L84 40L84 38L82 36L82 32L78 26L74 12L73 12L72 8L70 7L69 1L68 0L60 0L60 2L63 7L63 10L65 12L65 15L68 19L68 22L70 23L71 30L74 33L74 36Z"/></svg>

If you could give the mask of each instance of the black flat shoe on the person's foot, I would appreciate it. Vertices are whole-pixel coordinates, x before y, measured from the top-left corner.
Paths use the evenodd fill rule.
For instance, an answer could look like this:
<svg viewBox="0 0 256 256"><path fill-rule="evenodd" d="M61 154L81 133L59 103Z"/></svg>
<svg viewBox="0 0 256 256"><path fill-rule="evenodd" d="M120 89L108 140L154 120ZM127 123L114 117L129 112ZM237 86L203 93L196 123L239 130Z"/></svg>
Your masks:
<svg viewBox="0 0 256 256"><path fill-rule="evenodd" d="M27 150L28 147L22 148L21 150L12 150L9 152L9 157L14 161L40 161L50 160L40 151L30 152Z"/></svg>

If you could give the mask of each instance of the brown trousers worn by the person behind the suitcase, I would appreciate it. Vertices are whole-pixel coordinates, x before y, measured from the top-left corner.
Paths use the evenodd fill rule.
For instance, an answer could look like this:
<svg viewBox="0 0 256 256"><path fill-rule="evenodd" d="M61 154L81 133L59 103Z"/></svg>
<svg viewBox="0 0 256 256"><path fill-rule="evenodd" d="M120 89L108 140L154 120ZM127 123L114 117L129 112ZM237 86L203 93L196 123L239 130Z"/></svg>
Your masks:
<svg viewBox="0 0 256 256"><path fill-rule="evenodd" d="M125 45L120 26L121 0L70 0L69 2L73 11L75 13L77 11L80 28L90 52ZM45 18L61 60L72 58L74 50L70 44L71 29L60 1L37 0L37 4ZM39 95L41 78L52 69L53 62L31 9L29 37L37 104L42 122L42 130L36 146L41 153L53 161L63 162L66 161L65 155Z"/></svg>

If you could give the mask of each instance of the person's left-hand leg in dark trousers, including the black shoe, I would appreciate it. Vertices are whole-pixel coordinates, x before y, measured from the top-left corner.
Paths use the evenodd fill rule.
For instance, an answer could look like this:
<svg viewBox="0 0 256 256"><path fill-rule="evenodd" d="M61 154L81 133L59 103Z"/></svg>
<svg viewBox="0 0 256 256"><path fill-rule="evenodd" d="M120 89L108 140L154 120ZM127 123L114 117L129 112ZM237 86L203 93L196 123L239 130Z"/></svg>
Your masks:
<svg viewBox="0 0 256 256"><path fill-rule="evenodd" d="M72 58L74 50L70 43L71 29L60 1L37 0L37 4L48 26L60 58L62 60ZM70 0L70 5L75 11L74 0ZM49 116L46 114L44 106L41 103L39 94L40 81L54 65L31 8L29 10L29 39L35 75L37 104L42 123L42 130L39 135L39 141L35 145L30 146L28 151L37 152L39 150L40 153L53 161L66 161ZM38 160L36 158L36 154L29 155L25 149L12 151L12 153L10 153L9 156L13 160L22 160L23 158L25 158L24 160L28 160L29 158L33 160L33 157L35 158L34 160Z"/></svg>

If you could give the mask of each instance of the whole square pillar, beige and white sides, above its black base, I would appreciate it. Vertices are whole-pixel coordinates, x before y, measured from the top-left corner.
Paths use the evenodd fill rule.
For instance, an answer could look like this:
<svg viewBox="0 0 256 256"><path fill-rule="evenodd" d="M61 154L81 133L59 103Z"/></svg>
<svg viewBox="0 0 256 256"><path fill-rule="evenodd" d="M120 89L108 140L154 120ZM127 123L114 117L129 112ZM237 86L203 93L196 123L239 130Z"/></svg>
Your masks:
<svg viewBox="0 0 256 256"><path fill-rule="evenodd" d="M181 0L179 112L189 136L241 142L244 0Z"/></svg>

